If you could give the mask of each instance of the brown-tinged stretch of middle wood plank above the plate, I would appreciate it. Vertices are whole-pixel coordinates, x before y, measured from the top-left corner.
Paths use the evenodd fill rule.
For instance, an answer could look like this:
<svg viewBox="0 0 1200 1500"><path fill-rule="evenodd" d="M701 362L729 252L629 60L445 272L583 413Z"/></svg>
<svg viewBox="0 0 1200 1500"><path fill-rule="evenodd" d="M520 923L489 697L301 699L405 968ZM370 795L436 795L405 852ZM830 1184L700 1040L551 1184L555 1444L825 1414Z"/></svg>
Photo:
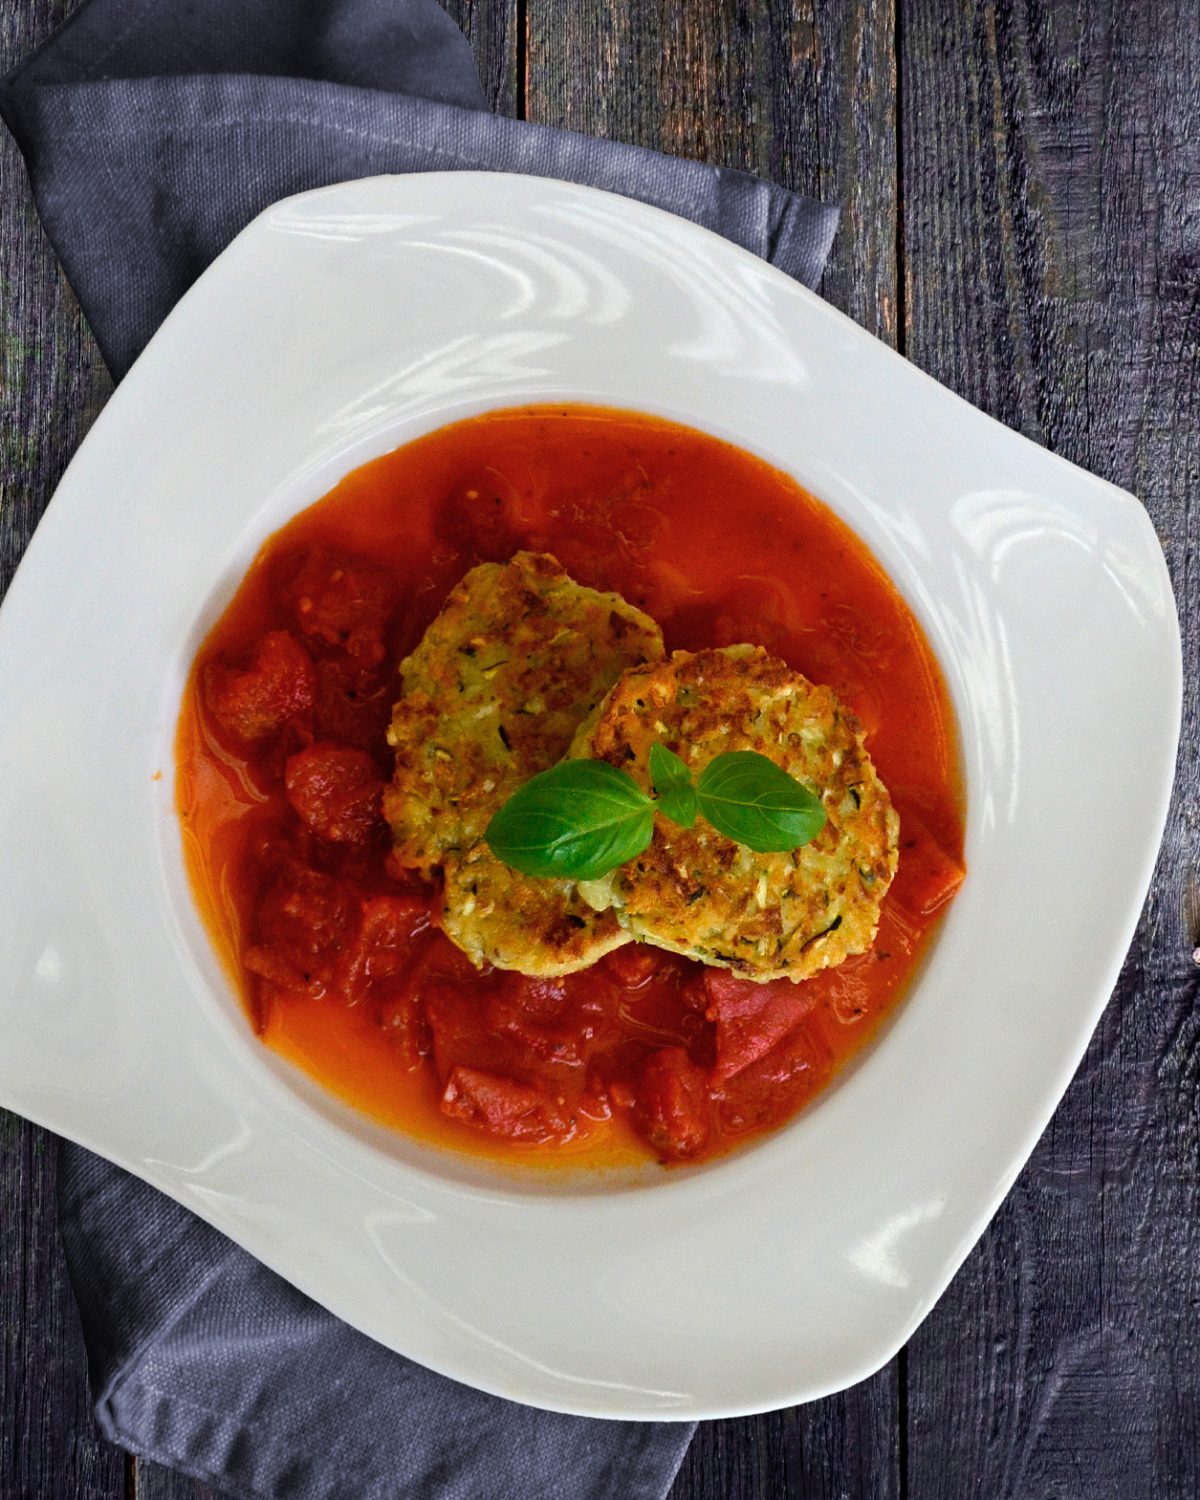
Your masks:
<svg viewBox="0 0 1200 1500"><path fill-rule="evenodd" d="M525 110L840 202L822 292L894 342L894 34L891 0L530 0Z"/></svg>

